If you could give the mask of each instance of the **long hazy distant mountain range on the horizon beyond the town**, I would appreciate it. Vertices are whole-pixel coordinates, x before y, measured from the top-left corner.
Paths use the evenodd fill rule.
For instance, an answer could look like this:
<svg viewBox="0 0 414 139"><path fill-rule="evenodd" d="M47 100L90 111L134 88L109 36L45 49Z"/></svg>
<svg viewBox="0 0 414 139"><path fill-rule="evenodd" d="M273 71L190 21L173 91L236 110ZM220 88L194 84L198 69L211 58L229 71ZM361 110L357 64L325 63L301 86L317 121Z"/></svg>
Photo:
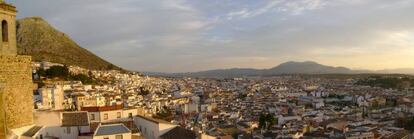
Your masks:
<svg viewBox="0 0 414 139"><path fill-rule="evenodd" d="M200 72L187 73L154 73L147 72L147 75L173 76L173 77L243 77L243 76L272 76L283 74L414 74L414 69L393 69L393 70L352 70L346 67L333 67L322 65L313 61L286 62L270 69L232 68L217 69Z"/></svg>

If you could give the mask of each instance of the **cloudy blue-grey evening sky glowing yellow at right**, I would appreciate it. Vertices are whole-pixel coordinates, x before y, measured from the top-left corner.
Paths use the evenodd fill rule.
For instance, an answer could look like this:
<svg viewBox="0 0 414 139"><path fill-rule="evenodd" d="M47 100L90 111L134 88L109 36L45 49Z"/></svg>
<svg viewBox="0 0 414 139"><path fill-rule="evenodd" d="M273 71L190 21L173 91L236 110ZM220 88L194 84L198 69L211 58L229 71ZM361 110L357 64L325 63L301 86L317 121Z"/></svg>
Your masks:
<svg viewBox="0 0 414 139"><path fill-rule="evenodd" d="M125 69L414 68L413 0L6 0Z"/></svg>

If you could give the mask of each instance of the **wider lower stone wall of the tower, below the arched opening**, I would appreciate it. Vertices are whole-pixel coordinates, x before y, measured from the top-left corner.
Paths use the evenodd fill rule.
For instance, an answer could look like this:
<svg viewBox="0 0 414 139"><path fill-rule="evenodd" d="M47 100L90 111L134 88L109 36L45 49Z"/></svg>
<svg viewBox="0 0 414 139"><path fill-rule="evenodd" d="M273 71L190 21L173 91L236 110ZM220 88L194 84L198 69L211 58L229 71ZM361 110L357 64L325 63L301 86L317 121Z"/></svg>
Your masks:
<svg viewBox="0 0 414 139"><path fill-rule="evenodd" d="M3 107L6 127L33 124L33 89L30 56L0 55L0 78L5 79Z"/></svg>

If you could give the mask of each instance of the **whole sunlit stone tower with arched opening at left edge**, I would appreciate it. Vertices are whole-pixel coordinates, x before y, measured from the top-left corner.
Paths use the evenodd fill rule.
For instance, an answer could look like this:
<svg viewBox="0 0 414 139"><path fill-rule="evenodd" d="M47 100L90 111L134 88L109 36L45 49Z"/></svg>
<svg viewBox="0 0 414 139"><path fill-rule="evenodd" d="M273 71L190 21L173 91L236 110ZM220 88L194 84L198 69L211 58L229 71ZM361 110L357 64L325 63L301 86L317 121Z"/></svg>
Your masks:
<svg viewBox="0 0 414 139"><path fill-rule="evenodd" d="M31 57L17 55L16 7L0 0L0 139L33 125Z"/></svg>

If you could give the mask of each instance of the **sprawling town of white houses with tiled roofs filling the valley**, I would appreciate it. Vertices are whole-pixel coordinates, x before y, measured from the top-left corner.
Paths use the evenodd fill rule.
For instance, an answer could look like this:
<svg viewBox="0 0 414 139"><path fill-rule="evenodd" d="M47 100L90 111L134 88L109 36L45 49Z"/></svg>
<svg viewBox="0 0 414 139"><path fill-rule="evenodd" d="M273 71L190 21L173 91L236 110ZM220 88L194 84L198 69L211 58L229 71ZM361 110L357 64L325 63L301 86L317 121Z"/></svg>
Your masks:
<svg viewBox="0 0 414 139"><path fill-rule="evenodd" d="M95 138L124 129L124 138L148 139L395 139L414 129L413 87L359 85L360 76L172 78L68 67L107 81L87 84L36 73L62 64L33 67L44 85L35 91L41 126L32 137Z"/></svg>

